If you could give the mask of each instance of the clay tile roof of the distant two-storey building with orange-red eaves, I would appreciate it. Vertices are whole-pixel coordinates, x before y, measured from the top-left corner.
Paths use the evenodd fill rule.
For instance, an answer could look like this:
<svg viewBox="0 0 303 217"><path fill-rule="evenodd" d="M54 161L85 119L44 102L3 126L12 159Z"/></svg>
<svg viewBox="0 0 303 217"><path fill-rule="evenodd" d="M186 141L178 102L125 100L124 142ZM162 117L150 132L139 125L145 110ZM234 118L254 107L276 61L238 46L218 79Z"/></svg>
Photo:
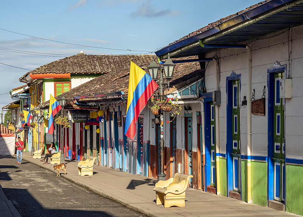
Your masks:
<svg viewBox="0 0 303 217"><path fill-rule="evenodd" d="M19 80L25 78L29 73L109 73L117 72L129 65L130 59L144 59L150 55L87 55L78 53L74 56L65 57L52 63L34 69Z"/></svg>

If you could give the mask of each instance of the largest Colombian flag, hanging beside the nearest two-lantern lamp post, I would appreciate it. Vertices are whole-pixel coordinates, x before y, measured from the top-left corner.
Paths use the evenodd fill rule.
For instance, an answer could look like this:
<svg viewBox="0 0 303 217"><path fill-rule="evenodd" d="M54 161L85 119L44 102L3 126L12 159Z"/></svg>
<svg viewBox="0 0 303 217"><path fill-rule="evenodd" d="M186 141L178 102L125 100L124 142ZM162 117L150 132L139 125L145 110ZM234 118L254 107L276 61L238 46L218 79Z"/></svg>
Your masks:
<svg viewBox="0 0 303 217"><path fill-rule="evenodd" d="M151 76L131 61L124 132L127 137L135 138L138 116L157 88Z"/></svg>

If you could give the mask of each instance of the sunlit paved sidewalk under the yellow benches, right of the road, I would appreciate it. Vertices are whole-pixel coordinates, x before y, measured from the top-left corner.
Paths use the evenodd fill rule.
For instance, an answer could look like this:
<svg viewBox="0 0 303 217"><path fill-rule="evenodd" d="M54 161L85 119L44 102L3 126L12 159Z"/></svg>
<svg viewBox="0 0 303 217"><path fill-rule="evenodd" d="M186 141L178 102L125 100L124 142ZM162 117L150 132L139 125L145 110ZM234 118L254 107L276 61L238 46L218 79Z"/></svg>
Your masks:
<svg viewBox="0 0 303 217"><path fill-rule="evenodd" d="M43 164L41 159L30 155L30 152L23 152L23 159L57 173L53 164ZM148 216L298 216L191 188L186 190L185 207L164 208L155 204L153 188L157 179L96 165L93 176L80 176L78 161L65 160L65 163L67 174L62 175L61 171L61 176Z"/></svg>

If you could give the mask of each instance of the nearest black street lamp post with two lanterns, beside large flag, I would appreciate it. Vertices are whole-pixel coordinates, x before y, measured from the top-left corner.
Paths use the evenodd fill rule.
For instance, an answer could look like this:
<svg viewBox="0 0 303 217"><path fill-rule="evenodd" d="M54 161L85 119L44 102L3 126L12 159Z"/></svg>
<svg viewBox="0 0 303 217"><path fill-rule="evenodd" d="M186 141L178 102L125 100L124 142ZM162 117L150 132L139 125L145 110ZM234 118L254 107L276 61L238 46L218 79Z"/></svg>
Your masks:
<svg viewBox="0 0 303 217"><path fill-rule="evenodd" d="M163 100L164 98L164 78L163 78L163 70L165 73L165 78L168 81L167 86L169 87L169 82L172 79L175 64L171 61L169 54L168 58L165 63L162 64L162 66L158 66L158 64L153 60L151 61L150 65L147 67L149 71L149 75L153 80L158 80L158 74L160 70L160 78L159 78L159 98L160 100ZM160 157L160 171L158 174L158 180L166 180L166 174L164 172L164 132L163 132L163 111L160 110L160 141L159 141L159 157Z"/></svg>

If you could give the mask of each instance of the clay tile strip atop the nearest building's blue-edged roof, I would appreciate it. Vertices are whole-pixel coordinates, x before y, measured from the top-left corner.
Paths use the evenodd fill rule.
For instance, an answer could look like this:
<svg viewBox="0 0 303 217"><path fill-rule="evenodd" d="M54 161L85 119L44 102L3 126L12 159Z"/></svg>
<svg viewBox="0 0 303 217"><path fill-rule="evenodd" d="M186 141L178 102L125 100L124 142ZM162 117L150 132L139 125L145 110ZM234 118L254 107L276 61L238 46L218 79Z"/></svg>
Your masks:
<svg viewBox="0 0 303 217"><path fill-rule="evenodd" d="M246 12L246 11L252 9L252 8L255 8L255 7L259 6L259 5L262 5L263 3L268 2L268 1L270 1L270 0L266 0L266 1L259 2L258 4L251 5L250 7L245 8L244 10L241 10L241 11L235 13L235 14L232 14L232 15L229 15L229 16L227 16L227 17L221 18L221 19L219 19L219 20L217 20L217 21L215 21L215 22L212 22L212 23L208 24L207 26L202 27L201 29L198 29L198 30L196 30L196 31L194 31L194 32L189 33L188 35L182 37L181 39L175 40L174 42L170 43L169 45L171 45L171 44L173 44L173 43L175 43L175 42L181 41L181 40L183 40L183 39L189 38L189 37L191 37L191 36L194 36L194 35L196 35L196 34L199 34L199 33L201 33L201 32L204 32L204 31L207 30L207 29L210 29L210 28L212 28L212 27L215 27L216 25L220 24L221 22L224 22L224 21L226 21L226 20L228 20L228 19L231 19L231 18L233 18L233 17L235 17L235 16L237 16L237 15L239 15L239 14L242 14L242 13L244 13L244 12Z"/></svg>

